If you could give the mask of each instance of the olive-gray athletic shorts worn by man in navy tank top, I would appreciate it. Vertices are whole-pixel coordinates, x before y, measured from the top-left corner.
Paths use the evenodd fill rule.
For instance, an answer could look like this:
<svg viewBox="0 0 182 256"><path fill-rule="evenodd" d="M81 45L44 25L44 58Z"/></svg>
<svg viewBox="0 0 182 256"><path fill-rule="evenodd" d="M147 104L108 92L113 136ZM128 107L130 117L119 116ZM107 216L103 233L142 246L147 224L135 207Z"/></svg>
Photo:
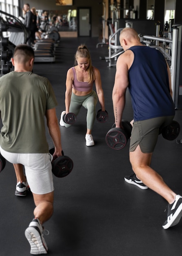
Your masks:
<svg viewBox="0 0 182 256"><path fill-rule="evenodd" d="M157 143L159 128L168 126L173 118L174 116L169 116L134 121L129 151L134 151L139 144L143 153L152 153Z"/></svg>

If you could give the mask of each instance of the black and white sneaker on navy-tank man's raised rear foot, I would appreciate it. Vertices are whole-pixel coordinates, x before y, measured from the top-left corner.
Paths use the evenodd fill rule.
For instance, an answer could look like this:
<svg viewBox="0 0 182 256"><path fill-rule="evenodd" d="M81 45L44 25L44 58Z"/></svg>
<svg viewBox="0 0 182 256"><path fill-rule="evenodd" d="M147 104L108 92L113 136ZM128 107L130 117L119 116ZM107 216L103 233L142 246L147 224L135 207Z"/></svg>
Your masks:
<svg viewBox="0 0 182 256"><path fill-rule="evenodd" d="M182 196L176 195L175 201L172 204L168 204L167 207L167 220L163 224L164 229L173 227L178 224L182 217Z"/></svg>

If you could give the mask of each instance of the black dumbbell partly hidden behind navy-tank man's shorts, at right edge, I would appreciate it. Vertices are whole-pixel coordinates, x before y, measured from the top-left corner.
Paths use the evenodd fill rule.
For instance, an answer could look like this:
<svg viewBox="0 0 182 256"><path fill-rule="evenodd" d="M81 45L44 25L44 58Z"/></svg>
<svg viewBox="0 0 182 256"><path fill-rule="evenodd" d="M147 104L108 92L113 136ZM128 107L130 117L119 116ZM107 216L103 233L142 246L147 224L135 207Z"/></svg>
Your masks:
<svg viewBox="0 0 182 256"><path fill-rule="evenodd" d="M171 124L159 130L159 134L161 133L164 139L174 140L180 134L180 124L173 120Z"/></svg>

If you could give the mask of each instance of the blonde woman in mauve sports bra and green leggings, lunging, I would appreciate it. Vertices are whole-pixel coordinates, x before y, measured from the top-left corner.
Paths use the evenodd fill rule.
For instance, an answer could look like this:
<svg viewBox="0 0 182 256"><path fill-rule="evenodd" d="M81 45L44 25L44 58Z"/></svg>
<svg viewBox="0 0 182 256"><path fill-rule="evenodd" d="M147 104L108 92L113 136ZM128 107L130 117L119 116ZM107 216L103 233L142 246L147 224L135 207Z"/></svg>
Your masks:
<svg viewBox="0 0 182 256"><path fill-rule="evenodd" d="M95 83L96 92L93 90ZM92 128L96 117L96 103L99 99L101 110L105 111L104 94L101 75L96 67L92 66L90 52L86 45L80 45L75 54L75 67L71 67L66 76L65 107L61 113L60 125L70 127L63 121L68 113L78 115L81 107L87 109L86 146L93 146Z"/></svg>

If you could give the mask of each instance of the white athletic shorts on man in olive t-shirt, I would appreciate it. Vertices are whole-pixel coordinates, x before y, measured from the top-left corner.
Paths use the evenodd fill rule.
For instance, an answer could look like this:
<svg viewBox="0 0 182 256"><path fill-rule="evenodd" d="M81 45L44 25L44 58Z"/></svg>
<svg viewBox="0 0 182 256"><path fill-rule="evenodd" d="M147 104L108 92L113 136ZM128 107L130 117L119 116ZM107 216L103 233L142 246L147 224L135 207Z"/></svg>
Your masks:
<svg viewBox="0 0 182 256"><path fill-rule="evenodd" d="M43 195L54 191L52 155L10 153L0 148L0 153L12 164L22 164L26 180L33 193Z"/></svg>

